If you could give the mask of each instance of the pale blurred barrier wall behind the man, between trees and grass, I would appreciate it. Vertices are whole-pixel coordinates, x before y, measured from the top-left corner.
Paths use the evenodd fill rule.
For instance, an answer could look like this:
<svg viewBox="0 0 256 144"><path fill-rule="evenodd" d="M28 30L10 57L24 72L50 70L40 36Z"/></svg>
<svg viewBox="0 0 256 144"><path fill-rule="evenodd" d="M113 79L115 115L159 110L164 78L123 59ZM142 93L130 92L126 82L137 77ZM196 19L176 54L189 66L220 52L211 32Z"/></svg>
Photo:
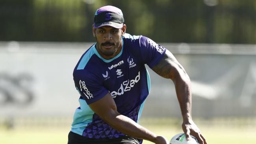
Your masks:
<svg viewBox="0 0 256 144"><path fill-rule="evenodd" d="M71 117L79 107L72 72L92 44L0 42L0 117ZM256 116L255 46L162 45L191 78L194 116ZM149 72L143 115L180 117L173 82Z"/></svg>

